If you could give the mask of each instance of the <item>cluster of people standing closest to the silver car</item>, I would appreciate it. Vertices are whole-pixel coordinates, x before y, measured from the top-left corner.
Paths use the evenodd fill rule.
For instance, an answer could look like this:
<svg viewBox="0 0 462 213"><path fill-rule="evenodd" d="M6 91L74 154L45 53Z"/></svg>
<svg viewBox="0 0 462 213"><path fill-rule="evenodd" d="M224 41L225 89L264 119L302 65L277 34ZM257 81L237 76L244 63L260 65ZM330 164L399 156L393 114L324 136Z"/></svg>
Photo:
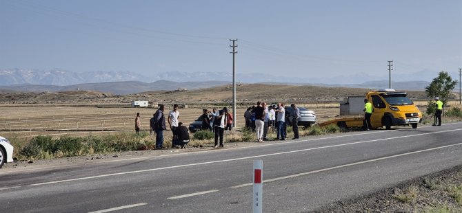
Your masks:
<svg viewBox="0 0 462 213"><path fill-rule="evenodd" d="M299 138L299 126L298 120L300 117L299 108L295 104L290 105L292 107L292 129L294 131L294 138ZM277 140L285 140L287 135L287 123L289 120L288 113L285 112L285 106L282 103L278 103L277 106L268 106L265 102L257 102L257 106L251 106L244 113L245 126L252 128L257 134L257 141L263 142L268 140L268 129L277 129Z"/></svg>

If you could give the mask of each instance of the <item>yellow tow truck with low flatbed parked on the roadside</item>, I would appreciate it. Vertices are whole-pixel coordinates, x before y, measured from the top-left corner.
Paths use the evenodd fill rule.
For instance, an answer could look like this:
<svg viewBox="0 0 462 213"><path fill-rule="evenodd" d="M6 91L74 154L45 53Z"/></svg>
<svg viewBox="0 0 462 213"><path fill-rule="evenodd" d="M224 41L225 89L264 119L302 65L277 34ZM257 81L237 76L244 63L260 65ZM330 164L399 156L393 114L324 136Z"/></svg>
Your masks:
<svg viewBox="0 0 462 213"><path fill-rule="evenodd" d="M412 126L422 121L422 113L417 106L408 98L408 93L395 91L394 89L380 89L365 93L365 98L372 103L372 116L370 122L372 128L390 129L391 126ZM319 124L327 126L337 124L343 128L363 127L364 116L343 117Z"/></svg>

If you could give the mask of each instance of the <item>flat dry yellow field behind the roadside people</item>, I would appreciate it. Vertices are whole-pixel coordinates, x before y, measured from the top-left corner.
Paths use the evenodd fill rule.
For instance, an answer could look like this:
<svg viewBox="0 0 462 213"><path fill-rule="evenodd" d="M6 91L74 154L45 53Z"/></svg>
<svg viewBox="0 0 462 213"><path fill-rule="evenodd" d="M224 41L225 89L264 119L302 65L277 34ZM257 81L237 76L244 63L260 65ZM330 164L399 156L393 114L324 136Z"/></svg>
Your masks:
<svg viewBox="0 0 462 213"><path fill-rule="evenodd" d="M222 106L221 106L222 107ZM221 109L221 107L217 107ZM165 111L172 106L167 105ZM212 109L212 106L208 107ZM141 114L141 130L149 131L149 120L157 109L101 108L95 106L3 106L0 135L31 137L37 135L88 135L134 131L134 117ZM318 121L339 114L338 108L313 109ZM189 125L201 115L201 109L179 109L180 122ZM245 124L245 107L237 109L237 126Z"/></svg>

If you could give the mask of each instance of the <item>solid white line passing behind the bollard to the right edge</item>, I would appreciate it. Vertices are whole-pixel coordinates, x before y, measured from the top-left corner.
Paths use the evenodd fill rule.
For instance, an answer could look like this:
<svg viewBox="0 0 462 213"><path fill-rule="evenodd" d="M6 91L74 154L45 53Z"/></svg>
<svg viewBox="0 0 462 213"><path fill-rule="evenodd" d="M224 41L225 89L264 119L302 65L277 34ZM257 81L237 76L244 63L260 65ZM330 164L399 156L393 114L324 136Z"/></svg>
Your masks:
<svg viewBox="0 0 462 213"><path fill-rule="evenodd" d="M279 181L279 180L282 180L282 179L289 179L289 178L292 178L292 177L300 177L300 176L303 176L303 175L310 175L310 174L314 174L314 173L318 173L318 172L325 172L325 171L328 171L328 170L335 170L337 168L343 168L343 167L354 166L354 165L359 165L359 164L366 164L366 163L370 163L370 162L374 162L374 161L381 161L383 159L390 159L390 158L394 158L394 157L401 157L401 156L412 155L412 154L416 154L416 153L423 153L423 152L427 152L427 151L430 151L430 150L437 150L437 149L441 149L441 148L448 148L448 147L451 147L451 146L459 146L459 145L462 145L462 143L451 144L451 145L447 145L447 146L439 146L439 147L435 147L435 148L428 148L428 149L418 150L418 151L414 151L414 152L410 152L410 153L403 153L403 154L399 154L399 155L391 155L391 156L388 156L388 157L379 157L379 158L370 159L370 160L367 160L367 161L359 161L359 162L355 162L355 163L352 163L352 164L344 164L344 165L340 165L340 166L334 166L334 167L330 167L330 168L323 168L323 169L320 169L320 170L314 170L314 171L310 171L310 172L302 172L302 173L299 173L299 174L288 175L288 176L284 176L284 177L277 177L277 178L273 178L273 179L263 180L263 183L268 183L268 182L272 182L272 181ZM253 183L245 183L245 184L241 184L241 185L238 185L238 186L231 186L230 188L241 188L241 187L245 187L245 186L252 186L252 184Z"/></svg>

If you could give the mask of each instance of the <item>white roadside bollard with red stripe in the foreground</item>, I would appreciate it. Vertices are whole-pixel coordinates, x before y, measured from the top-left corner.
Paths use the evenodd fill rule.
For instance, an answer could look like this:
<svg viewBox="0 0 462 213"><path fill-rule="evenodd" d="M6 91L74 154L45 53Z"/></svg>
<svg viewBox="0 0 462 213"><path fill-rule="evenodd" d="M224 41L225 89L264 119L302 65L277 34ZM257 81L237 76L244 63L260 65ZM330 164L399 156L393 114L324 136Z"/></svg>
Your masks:
<svg viewBox="0 0 462 213"><path fill-rule="evenodd" d="M263 161L254 160L253 213L263 212Z"/></svg>

